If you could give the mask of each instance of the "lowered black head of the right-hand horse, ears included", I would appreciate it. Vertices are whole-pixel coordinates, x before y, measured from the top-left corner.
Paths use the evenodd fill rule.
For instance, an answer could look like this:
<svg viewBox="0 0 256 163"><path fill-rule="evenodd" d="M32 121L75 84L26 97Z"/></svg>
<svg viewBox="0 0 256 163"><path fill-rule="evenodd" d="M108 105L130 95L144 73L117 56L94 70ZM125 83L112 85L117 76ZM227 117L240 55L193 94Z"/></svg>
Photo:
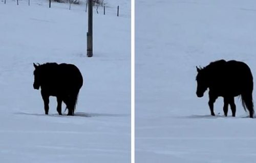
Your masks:
<svg viewBox="0 0 256 163"><path fill-rule="evenodd" d="M198 97L203 97L204 92L208 88L208 77L205 72L205 69L202 69L201 67L197 67L197 96Z"/></svg>

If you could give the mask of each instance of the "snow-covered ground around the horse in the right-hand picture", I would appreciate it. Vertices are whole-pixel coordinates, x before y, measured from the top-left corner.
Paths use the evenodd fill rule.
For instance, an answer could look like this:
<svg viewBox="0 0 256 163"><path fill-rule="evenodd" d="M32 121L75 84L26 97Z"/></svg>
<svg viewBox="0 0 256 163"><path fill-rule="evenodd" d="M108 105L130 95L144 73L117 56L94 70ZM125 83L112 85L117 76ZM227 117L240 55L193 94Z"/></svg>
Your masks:
<svg viewBox="0 0 256 163"><path fill-rule="evenodd" d="M136 162L255 162L256 120L212 117L196 96L196 66L247 63L256 78L256 2L138 0L136 6ZM254 80L255 82L255 80ZM253 93L256 98L255 91Z"/></svg>

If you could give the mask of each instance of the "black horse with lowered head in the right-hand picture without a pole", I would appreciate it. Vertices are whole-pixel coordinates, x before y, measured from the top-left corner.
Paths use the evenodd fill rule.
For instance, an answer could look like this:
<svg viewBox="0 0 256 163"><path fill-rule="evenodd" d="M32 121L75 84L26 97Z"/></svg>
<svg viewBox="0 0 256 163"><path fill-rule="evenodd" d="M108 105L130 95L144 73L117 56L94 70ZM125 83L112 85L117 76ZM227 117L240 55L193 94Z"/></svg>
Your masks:
<svg viewBox="0 0 256 163"><path fill-rule="evenodd" d="M203 97L209 88L209 107L212 116L214 114L214 102L221 96L224 98L223 111L227 116L228 104L230 104L232 116L236 116L234 97L241 95L244 110L249 111L253 118L253 77L250 68L243 62L219 60L210 63L204 68L197 67L197 96Z"/></svg>

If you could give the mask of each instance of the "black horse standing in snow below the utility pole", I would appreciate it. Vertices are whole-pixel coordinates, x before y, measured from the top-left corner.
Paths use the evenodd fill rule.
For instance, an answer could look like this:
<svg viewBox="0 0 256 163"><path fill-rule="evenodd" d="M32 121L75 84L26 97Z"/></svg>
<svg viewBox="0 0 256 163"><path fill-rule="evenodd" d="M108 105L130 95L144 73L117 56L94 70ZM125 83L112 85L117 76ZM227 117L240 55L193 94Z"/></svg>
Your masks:
<svg viewBox="0 0 256 163"><path fill-rule="evenodd" d="M77 96L83 84L79 69L72 64L46 63L35 65L34 89L41 87L41 95L45 104L45 113L49 111L49 96L57 97L57 112L61 115L62 101L68 108L68 115L73 116Z"/></svg>

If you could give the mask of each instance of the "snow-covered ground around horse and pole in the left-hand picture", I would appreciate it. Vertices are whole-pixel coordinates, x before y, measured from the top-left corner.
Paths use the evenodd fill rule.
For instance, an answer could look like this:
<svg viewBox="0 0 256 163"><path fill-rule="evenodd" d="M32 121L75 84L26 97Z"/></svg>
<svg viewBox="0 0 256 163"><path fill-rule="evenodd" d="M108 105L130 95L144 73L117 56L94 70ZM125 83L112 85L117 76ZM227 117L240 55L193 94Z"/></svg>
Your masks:
<svg viewBox="0 0 256 163"><path fill-rule="evenodd" d="M125 2L120 17L94 8L92 58L86 57L84 4L68 10L57 3L49 9L47 1L0 2L1 162L131 162L131 13ZM84 85L74 117L57 115L55 97L44 115L33 62L80 69Z"/></svg>

